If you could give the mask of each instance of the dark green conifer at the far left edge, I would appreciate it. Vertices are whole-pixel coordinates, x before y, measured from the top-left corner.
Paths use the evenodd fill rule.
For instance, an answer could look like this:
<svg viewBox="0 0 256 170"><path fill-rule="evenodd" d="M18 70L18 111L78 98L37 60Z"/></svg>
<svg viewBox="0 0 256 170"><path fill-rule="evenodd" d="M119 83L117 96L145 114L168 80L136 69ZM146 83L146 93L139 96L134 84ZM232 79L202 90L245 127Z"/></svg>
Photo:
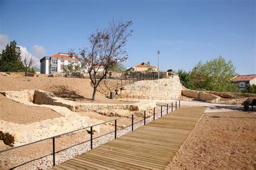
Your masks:
<svg viewBox="0 0 256 170"><path fill-rule="evenodd" d="M21 72L23 64L21 50L16 46L16 41L11 41L2 51L0 58L0 72Z"/></svg>

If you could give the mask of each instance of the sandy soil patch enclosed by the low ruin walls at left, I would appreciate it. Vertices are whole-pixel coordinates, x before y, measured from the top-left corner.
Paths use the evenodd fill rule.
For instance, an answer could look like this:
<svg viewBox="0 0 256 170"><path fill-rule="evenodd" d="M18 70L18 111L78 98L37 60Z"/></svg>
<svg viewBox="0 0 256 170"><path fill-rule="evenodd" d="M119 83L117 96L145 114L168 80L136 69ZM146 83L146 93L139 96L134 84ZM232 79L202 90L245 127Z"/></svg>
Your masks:
<svg viewBox="0 0 256 170"><path fill-rule="evenodd" d="M62 115L49 108L30 107L17 103L0 94L0 119L3 121L26 124L56 117Z"/></svg>

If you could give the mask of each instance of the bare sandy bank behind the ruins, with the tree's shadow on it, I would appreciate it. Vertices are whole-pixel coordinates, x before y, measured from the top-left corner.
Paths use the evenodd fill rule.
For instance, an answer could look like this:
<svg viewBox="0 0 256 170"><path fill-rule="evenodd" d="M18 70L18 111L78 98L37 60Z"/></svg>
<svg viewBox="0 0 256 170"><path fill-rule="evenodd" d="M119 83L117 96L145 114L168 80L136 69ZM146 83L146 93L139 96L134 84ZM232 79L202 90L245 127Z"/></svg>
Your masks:
<svg viewBox="0 0 256 170"><path fill-rule="evenodd" d="M90 86L89 79L0 76L0 91L22 89L40 89L50 91L58 97L64 97L73 101L93 103L127 103L111 100L100 93L96 93L96 100L92 101L91 97L93 89Z"/></svg>

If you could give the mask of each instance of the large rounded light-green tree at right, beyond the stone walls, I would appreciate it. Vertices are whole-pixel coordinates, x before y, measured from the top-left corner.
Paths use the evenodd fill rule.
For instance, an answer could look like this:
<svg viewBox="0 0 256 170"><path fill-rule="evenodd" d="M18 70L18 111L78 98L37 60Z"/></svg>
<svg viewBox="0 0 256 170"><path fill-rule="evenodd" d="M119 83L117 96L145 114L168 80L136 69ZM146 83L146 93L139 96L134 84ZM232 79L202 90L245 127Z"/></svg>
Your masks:
<svg viewBox="0 0 256 170"><path fill-rule="evenodd" d="M226 62L222 56L205 63L199 61L190 75L194 89L232 92L238 89L233 81L237 75L235 67L231 60Z"/></svg>

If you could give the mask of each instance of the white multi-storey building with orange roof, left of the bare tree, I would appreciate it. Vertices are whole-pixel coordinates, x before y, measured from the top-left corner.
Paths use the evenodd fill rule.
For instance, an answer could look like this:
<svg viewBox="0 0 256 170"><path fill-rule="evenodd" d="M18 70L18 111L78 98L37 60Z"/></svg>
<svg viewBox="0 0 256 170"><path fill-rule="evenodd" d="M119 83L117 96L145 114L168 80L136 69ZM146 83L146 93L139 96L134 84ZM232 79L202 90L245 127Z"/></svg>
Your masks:
<svg viewBox="0 0 256 170"><path fill-rule="evenodd" d="M44 56L40 60L41 63L41 74L53 74L57 72L62 72L64 65L75 62L78 65L81 65L80 59L72 57L67 53L57 53L52 56Z"/></svg>

